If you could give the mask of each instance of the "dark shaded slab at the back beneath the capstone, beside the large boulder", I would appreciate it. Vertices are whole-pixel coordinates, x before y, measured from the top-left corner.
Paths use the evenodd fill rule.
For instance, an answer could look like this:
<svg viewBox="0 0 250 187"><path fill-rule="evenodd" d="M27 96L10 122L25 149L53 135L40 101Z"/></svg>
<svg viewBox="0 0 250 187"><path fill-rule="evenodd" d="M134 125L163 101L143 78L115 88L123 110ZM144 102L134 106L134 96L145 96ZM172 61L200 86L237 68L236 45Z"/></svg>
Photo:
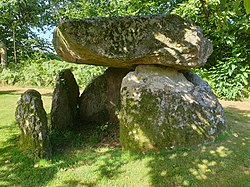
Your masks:
<svg viewBox="0 0 250 187"><path fill-rule="evenodd" d="M88 84L80 97L81 124L119 123L121 82L128 72L128 69L109 68Z"/></svg>

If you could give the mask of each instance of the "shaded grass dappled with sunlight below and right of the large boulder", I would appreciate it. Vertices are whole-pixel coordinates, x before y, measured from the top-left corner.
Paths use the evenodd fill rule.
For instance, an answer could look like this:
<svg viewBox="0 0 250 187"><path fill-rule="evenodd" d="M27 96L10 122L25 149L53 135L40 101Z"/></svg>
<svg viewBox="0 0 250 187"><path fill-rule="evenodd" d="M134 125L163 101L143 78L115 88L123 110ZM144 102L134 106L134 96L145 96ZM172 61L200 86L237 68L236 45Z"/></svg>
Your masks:
<svg viewBox="0 0 250 187"><path fill-rule="evenodd" d="M249 111L226 108L231 133L216 143L157 154L150 168L151 186L249 186Z"/></svg>

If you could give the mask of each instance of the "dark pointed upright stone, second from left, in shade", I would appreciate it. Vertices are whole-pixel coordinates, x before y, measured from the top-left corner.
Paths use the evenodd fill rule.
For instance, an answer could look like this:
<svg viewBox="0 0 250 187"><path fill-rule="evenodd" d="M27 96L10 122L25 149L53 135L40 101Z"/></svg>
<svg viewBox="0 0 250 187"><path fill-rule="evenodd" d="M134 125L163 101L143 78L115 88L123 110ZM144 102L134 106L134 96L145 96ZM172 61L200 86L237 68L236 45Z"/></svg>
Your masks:
<svg viewBox="0 0 250 187"><path fill-rule="evenodd" d="M51 128L59 131L75 128L78 122L79 87L69 69L56 79L51 108Z"/></svg>

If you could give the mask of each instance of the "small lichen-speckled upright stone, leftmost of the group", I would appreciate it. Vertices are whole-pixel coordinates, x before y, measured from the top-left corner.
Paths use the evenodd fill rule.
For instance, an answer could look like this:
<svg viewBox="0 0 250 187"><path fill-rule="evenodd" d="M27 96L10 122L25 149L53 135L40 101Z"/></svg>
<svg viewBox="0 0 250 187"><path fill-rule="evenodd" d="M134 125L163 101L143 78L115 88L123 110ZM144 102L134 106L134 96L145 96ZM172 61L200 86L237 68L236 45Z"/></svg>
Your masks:
<svg viewBox="0 0 250 187"><path fill-rule="evenodd" d="M46 112L41 95L27 90L17 102L15 113L21 130L20 148L32 158L50 158L51 145L48 136Z"/></svg>

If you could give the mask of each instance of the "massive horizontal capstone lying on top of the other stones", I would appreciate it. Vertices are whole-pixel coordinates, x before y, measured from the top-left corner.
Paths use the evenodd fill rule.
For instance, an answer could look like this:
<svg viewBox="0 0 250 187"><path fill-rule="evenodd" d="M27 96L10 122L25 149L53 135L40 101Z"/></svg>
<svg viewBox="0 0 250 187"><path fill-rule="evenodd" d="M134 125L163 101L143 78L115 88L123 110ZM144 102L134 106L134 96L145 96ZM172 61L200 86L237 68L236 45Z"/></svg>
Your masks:
<svg viewBox="0 0 250 187"><path fill-rule="evenodd" d="M54 47L65 61L110 67L199 67L212 53L200 28L177 15L88 18L62 22Z"/></svg>

